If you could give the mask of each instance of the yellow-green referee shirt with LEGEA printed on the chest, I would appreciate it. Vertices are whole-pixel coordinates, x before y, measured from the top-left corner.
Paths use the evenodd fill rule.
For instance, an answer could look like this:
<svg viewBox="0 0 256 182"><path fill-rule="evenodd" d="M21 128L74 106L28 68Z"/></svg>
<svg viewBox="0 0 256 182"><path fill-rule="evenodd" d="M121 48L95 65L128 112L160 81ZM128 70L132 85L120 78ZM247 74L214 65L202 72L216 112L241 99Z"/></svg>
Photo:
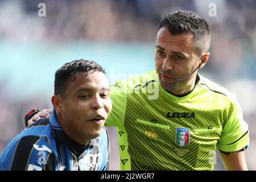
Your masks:
<svg viewBox="0 0 256 182"><path fill-rule="evenodd" d="M123 170L213 170L214 151L249 144L236 96L199 76L193 91L177 97L155 71L111 86L113 110L106 126L118 130Z"/></svg>

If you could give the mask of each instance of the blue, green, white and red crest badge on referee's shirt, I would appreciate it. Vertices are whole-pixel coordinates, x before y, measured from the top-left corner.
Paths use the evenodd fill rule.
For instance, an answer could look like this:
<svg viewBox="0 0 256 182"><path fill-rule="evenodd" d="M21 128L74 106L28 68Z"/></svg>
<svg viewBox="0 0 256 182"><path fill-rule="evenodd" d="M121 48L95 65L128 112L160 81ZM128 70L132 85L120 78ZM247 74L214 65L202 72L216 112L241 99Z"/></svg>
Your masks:
<svg viewBox="0 0 256 182"><path fill-rule="evenodd" d="M187 146L190 143L189 129L186 129L184 127L176 127L175 143L181 147Z"/></svg>

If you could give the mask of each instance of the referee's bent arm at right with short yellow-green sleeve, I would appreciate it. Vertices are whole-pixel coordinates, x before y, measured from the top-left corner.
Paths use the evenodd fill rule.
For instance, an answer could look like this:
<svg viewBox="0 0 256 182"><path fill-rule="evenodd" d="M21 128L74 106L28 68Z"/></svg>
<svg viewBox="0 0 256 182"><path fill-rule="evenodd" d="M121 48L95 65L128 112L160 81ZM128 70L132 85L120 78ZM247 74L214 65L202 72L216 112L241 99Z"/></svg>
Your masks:
<svg viewBox="0 0 256 182"><path fill-rule="evenodd" d="M244 151L250 143L249 128L237 101L230 105L229 112L217 148L226 170L247 170Z"/></svg>

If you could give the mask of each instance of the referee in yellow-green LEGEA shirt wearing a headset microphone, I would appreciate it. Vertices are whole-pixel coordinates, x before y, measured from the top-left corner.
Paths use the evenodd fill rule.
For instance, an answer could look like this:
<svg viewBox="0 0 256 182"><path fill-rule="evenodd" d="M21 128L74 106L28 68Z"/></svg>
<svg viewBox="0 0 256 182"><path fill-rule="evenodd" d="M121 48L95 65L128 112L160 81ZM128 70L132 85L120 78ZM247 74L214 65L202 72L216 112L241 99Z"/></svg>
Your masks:
<svg viewBox="0 0 256 182"><path fill-rule="evenodd" d="M204 18L170 13L156 35L155 71L111 87L105 125L117 127L122 170L213 170L216 148L227 170L247 170L249 129L236 96L197 73L209 46Z"/></svg>

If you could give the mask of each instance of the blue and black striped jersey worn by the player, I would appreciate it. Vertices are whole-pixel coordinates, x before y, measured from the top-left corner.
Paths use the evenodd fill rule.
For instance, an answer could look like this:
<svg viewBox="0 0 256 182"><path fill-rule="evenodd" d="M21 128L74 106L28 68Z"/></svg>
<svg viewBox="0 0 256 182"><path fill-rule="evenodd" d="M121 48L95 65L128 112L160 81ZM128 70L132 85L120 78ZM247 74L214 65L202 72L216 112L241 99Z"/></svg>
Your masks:
<svg viewBox="0 0 256 182"><path fill-rule="evenodd" d="M105 127L87 146L75 142L64 133L53 110L49 119L40 119L11 140L0 156L0 170L106 170L109 147Z"/></svg>

